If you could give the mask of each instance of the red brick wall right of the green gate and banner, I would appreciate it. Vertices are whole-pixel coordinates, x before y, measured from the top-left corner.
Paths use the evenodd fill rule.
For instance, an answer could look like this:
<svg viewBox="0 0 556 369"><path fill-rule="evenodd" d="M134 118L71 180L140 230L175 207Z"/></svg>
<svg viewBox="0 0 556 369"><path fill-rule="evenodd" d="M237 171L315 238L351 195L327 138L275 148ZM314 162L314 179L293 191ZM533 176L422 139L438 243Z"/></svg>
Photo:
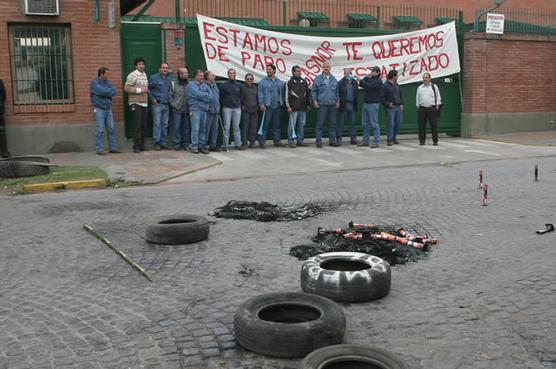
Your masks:
<svg viewBox="0 0 556 369"><path fill-rule="evenodd" d="M556 111L556 37L465 35L465 113Z"/></svg>

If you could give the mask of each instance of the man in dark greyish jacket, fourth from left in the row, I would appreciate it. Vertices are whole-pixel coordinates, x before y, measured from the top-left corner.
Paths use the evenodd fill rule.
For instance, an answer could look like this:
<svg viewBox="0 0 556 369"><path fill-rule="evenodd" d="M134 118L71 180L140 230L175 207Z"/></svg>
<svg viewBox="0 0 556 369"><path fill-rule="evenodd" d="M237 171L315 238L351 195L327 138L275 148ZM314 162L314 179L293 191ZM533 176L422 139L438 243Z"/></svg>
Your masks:
<svg viewBox="0 0 556 369"><path fill-rule="evenodd" d="M189 71L179 68L176 82L172 83L170 106L174 110L174 150L189 150L190 122L187 89Z"/></svg>

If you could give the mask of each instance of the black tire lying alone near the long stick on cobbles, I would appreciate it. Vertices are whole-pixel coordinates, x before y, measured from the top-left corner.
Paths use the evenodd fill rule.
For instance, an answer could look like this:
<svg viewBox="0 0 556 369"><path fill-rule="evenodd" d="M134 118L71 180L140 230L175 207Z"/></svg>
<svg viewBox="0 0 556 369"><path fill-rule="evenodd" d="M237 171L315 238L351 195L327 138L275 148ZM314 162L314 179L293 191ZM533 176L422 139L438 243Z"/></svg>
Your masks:
<svg viewBox="0 0 556 369"><path fill-rule="evenodd" d="M181 245L206 240L207 218L199 215L172 215L156 219L147 226L146 239L152 243Z"/></svg>

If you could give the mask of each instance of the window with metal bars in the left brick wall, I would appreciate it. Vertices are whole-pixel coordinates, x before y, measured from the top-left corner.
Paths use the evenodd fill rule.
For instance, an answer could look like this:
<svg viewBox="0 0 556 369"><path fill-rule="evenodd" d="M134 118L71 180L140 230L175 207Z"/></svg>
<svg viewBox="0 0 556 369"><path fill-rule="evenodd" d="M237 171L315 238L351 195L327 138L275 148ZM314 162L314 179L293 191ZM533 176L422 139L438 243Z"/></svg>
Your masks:
<svg viewBox="0 0 556 369"><path fill-rule="evenodd" d="M9 24L14 105L73 104L71 28Z"/></svg>

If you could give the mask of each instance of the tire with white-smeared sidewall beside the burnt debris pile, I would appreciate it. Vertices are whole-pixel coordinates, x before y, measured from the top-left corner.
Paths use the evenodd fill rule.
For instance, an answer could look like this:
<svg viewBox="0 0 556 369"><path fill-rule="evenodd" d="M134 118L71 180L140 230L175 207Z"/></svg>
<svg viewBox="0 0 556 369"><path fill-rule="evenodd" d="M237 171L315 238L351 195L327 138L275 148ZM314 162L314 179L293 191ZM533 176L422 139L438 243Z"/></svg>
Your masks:
<svg viewBox="0 0 556 369"><path fill-rule="evenodd" d="M359 252L330 252L306 260L301 267L301 289L338 302L362 302L390 291L390 264Z"/></svg>

